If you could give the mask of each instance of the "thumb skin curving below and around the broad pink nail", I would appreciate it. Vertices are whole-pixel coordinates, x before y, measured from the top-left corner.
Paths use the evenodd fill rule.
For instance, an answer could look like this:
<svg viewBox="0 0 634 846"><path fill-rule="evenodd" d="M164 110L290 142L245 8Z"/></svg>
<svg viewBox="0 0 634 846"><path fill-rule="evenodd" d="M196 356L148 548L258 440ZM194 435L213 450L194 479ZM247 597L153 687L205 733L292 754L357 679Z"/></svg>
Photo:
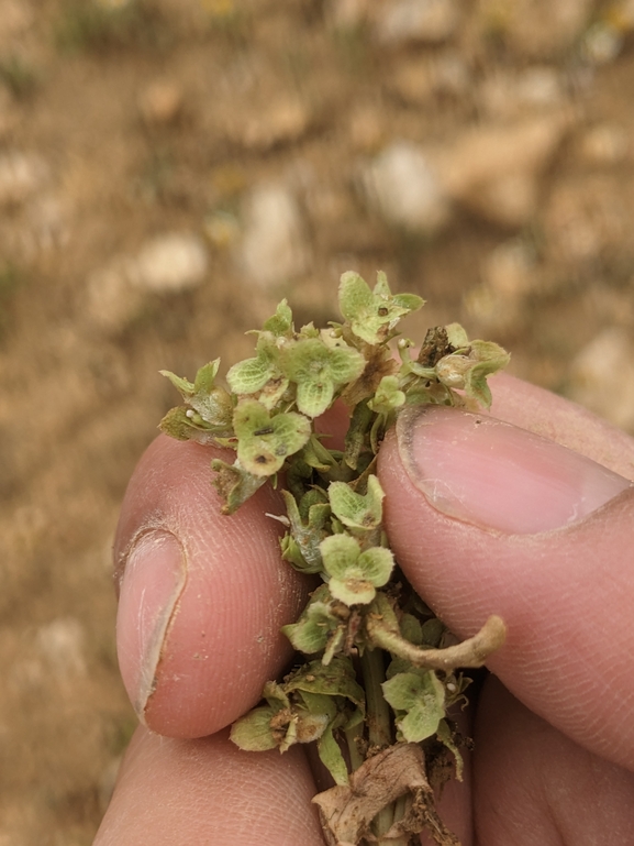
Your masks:
<svg viewBox="0 0 634 846"><path fill-rule="evenodd" d="M501 416L522 407L525 388L513 382L498 404ZM611 452L618 472L632 466L634 446L625 436L614 433L612 447L596 444L585 433L588 413L547 392L530 406L525 425L540 427L552 403L552 435L563 431L590 458ZM599 440L611 437L605 425L590 429ZM463 637L499 614L508 639L489 660L491 670L577 743L634 768L634 651L625 644L634 595L634 490L568 528L512 536L433 508L404 471L393 433L381 448L379 479L392 549L423 598Z"/></svg>

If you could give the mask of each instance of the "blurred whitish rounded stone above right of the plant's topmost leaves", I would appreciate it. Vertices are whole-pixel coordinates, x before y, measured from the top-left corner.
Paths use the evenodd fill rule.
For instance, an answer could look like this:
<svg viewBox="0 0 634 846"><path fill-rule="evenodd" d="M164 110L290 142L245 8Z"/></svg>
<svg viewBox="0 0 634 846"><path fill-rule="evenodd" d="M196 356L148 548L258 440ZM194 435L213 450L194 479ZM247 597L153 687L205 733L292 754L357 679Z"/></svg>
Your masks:
<svg viewBox="0 0 634 846"><path fill-rule="evenodd" d="M434 232L449 218L442 184L415 144L391 144L362 169L362 183L370 205L393 226Z"/></svg>

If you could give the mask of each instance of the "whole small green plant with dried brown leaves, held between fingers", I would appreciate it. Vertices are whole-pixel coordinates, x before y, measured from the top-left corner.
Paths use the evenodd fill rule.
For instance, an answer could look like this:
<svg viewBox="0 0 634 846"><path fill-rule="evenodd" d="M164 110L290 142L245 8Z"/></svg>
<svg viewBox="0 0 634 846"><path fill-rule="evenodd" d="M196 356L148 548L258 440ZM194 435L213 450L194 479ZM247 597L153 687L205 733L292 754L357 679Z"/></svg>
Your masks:
<svg viewBox="0 0 634 846"><path fill-rule="evenodd" d="M448 778L447 751L461 773L461 738L447 712L466 702L459 668L480 667L504 626L491 616L472 638L445 646L445 626L389 548L378 453L403 408L489 406L487 377L509 356L470 341L458 323L430 329L418 354L401 338L396 355L399 321L421 297L392 294L383 273L370 289L352 271L338 296L343 322L327 329L296 329L282 300L255 332L253 356L230 367L230 391L216 384L218 359L193 382L164 371L183 405L160 428L225 450L211 462L225 514L269 479L281 488L282 513L267 517L283 526L281 558L302 574L296 583L313 587L281 629L296 650L292 671L266 683L232 740L249 751L316 745L336 784L316 798L327 843L415 846L426 825L436 844L455 846L432 789ZM335 402L331 438L319 418Z"/></svg>

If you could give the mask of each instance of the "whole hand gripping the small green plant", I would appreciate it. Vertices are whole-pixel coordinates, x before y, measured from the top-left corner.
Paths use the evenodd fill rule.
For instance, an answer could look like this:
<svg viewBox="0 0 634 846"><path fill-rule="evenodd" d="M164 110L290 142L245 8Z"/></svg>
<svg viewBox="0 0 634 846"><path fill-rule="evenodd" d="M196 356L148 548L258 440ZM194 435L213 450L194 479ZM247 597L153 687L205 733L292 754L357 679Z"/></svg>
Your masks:
<svg viewBox="0 0 634 846"><path fill-rule="evenodd" d="M625 846L634 441L547 392L492 384L498 419L552 442L434 407L403 417L380 453L386 525L410 582L463 637L492 613L509 629L475 708L469 771L441 811L463 846ZM209 455L159 438L126 495L118 642L146 727L98 846L323 845L303 749L242 752L223 730L283 670L279 627L309 585L279 562L264 516L280 512L276 494L262 488L222 517Z"/></svg>

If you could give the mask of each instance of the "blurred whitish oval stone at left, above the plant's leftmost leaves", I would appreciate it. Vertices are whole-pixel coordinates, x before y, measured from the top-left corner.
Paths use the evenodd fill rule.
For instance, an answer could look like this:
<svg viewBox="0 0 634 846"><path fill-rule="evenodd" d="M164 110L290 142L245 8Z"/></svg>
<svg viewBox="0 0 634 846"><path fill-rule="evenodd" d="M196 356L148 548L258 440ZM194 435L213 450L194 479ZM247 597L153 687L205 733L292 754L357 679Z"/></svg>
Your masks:
<svg viewBox="0 0 634 846"><path fill-rule="evenodd" d="M143 245L129 273L137 287L164 294L197 287L208 270L202 240L190 232L171 232Z"/></svg>

